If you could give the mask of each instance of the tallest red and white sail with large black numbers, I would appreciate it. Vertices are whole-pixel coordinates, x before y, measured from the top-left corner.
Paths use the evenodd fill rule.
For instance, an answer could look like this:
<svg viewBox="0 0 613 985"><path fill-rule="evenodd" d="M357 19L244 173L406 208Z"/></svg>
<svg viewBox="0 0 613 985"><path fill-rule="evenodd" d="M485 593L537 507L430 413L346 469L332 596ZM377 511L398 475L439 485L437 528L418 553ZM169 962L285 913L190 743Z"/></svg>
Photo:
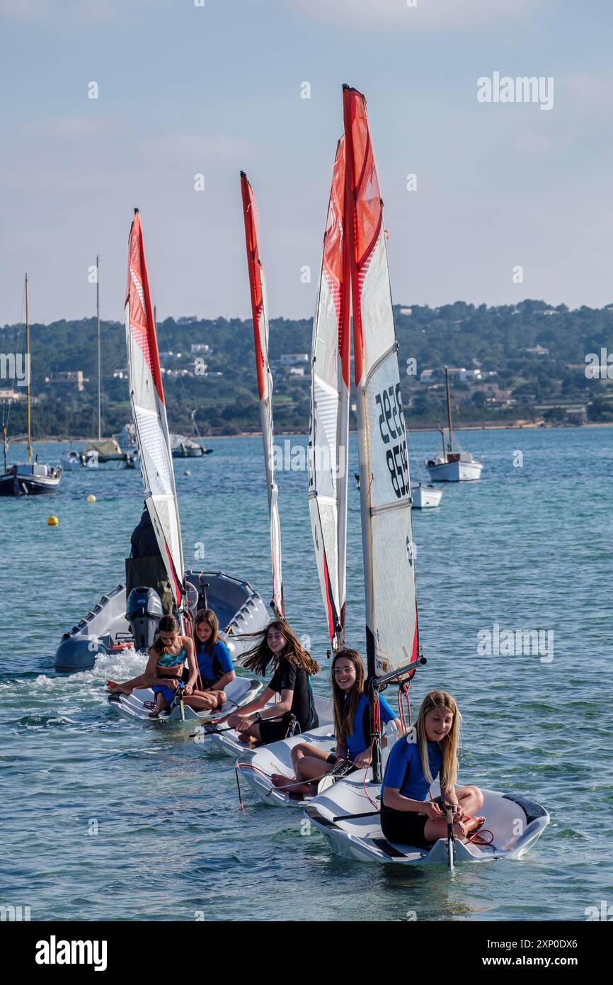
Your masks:
<svg viewBox="0 0 613 985"><path fill-rule="evenodd" d="M383 202L366 99L348 86L342 99L368 672L406 678L419 645L415 550Z"/></svg>

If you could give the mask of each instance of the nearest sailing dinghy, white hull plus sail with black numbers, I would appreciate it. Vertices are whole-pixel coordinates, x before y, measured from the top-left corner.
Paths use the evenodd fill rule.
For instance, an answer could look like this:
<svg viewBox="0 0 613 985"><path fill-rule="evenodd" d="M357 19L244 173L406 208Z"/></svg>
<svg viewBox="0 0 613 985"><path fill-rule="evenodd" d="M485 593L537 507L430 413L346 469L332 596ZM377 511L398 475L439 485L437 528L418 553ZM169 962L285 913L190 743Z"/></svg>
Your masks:
<svg viewBox="0 0 613 985"><path fill-rule="evenodd" d="M542 807L521 797L483 791L485 825L493 834L490 845L461 843L453 834L429 850L393 844L383 835L379 821L383 765L375 713L379 692L393 683L409 683L423 658L383 206L366 100L348 86L342 95L373 762L368 770L339 779L318 794L305 812L338 854L360 861L444 863L452 868L454 862L518 858L549 821ZM412 741L414 730L398 739Z"/></svg>

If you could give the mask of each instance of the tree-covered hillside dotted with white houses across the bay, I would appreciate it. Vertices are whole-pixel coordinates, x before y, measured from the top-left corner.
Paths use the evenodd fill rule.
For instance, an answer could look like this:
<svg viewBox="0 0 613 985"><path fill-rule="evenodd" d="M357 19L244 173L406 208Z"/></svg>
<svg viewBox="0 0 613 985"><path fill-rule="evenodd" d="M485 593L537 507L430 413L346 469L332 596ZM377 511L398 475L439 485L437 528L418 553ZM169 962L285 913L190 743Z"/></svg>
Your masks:
<svg viewBox="0 0 613 985"><path fill-rule="evenodd" d="M445 364L455 370L452 400L458 425L613 421L613 304L570 310L529 299L498 307L457 301L438 308L398 305L395 318L407 427L445 423ZM279 433L308 429L310 364L304 357L311 351L311 331L308 319L271 321ZM157 335L171 430L189 433L193 411L202 434L259 429L250 321L166 318L157 325ZM193 347L200 348L194 352ZM0 328L0 354L24 349L23 325ZM604 360L596 378L586 372L589 354ZM131 417L120 322L101 325L101 367L103 431L117 433ZM79 370L80 385L58 377ZM36 437L92 437L96 372L94 319L31 326ZM23 433L25 388L4 376L4 413L11 391L18 393L10 429Z"/></svg>

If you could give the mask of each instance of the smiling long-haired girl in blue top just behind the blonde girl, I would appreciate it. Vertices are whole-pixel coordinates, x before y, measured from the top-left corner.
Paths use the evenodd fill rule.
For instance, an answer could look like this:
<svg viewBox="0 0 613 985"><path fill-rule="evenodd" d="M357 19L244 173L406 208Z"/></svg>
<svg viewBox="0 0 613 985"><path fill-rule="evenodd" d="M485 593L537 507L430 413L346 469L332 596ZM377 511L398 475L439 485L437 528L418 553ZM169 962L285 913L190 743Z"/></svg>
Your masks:
<svg viewBox="0 0 613 985"><path fill-rule="evenodd" d="M332 755L317 749L310 743L300 743L291 750L294 778L273 773L274 786L287 788L294 794L315 793L316 784L331 772L337 763L351 760L354 769L363 769L372 762L372 736L370 726L370 701L364 690L364 664L357 650L348 647L338 650L332 662L332 694L335 709L335 735L337 748ZM382 722L399 719L383 695L379 697ZM384 740L385 742L385 740ZM300 782L303 780L304 782Z"/></svg>

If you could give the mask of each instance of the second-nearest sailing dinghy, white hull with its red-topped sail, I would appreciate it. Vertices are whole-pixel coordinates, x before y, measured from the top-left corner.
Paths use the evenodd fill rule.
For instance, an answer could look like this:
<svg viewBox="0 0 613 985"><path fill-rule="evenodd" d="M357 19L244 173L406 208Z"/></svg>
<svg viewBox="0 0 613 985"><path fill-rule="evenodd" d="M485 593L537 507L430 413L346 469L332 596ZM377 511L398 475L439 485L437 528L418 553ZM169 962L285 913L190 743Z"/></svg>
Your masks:
<svg viewBox="0 0 613 985"><path fill-rule="evenodd" d="M341 138L333 169L313 320L309 432L309 512L326 623L335 650L344 641L349 439L349 293L343 198L344 138ZM248 755L244 755L244 744L242 749L234 746L234 750L243 753L236 764L239 777L247 780L265 803L299 807L309 800L276 789L271 775L292 775L291 750L300 742L314 743L328 753L334 751L332 702L324 705L316 698L316 707L322 723L317 729L261 746Z"/></svg>

